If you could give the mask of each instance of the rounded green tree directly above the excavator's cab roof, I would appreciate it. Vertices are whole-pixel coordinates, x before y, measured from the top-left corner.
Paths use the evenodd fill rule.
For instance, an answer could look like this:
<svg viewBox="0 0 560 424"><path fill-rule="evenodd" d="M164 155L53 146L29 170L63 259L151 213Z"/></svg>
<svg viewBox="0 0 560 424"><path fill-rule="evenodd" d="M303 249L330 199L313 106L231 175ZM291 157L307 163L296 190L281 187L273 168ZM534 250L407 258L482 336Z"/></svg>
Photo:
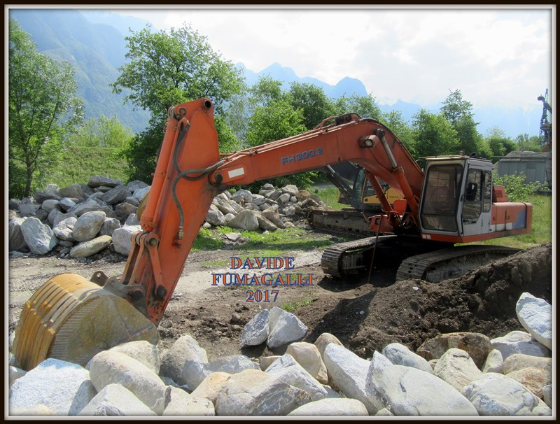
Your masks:
<svg viewBox="0 0 560 424"><path fill-rule="evenodd" d="M420 109L412 118L416 157L456 155L459 152L457 132L441 113Z"/></svg>

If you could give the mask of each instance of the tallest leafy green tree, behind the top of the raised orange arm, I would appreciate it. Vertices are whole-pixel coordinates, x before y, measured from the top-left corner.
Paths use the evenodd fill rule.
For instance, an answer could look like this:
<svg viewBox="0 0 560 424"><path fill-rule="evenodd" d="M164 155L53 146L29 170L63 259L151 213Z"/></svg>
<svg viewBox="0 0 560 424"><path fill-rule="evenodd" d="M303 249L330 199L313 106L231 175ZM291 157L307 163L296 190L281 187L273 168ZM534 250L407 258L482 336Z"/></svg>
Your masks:
<svg viewBox="0 0 560 424"><path fill-rule="evenodd" d="M244 80L235 65L214 52L206 37L190 25L183 24L169 32L152 32L148 25L138 32L131 31L125 39L128 62L121 66L113 91L130 90L125 100L151 112L149 128L137 134L127 152L132 175L149 181L155 169L155 154L163 138L168 108L209 97L214 101L218 117L223 112L223 104L241 92ZM232 133L225 129L225 121L219 125L228 132L226 138L230 143Z"/></svg>

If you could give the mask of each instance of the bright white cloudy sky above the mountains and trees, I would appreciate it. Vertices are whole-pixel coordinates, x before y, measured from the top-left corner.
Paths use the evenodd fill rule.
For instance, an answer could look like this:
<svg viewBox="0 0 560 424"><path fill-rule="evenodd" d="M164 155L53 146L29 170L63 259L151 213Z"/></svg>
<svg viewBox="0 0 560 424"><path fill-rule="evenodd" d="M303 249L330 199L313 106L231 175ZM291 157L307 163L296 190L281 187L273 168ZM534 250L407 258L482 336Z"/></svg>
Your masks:
<svg viewBox="0 0 560 424"><path fill-rule="evenodd" d="M547 88L552 103L552 6L145 7L113 12L155 29L190 23L223 59L251 71L278 62L331 85L358 78L381 104L435 106L458 89L476 106L529 110L542 108L536 98Z"/></svg>

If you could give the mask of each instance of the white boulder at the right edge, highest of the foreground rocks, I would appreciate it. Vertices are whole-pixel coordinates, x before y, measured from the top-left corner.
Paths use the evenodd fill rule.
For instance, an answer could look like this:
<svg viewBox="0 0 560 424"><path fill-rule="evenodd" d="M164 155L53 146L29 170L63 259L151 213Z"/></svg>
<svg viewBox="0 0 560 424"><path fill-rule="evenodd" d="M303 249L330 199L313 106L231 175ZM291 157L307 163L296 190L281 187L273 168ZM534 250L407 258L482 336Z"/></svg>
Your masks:
<svg viewBox="0 0 560 424"><path fill-rule="evenodd" d="M515 312L533 339L552 349L552 306L545 299L524 292L515 305Z"/></svg>

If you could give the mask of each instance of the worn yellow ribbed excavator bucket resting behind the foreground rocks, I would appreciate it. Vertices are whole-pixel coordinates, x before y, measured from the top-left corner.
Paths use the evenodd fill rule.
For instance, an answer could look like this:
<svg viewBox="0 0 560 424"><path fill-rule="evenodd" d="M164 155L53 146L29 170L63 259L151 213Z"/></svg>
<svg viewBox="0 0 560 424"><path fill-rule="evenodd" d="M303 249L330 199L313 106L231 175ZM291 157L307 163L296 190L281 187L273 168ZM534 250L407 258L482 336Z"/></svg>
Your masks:
<svg viewBox="0 0 560 424"><path fill-rule="evenodd" d="M100 351L136 340L157 344L157 327L125 299L78 274L61 274L25 302L13 353L26 370L46 358L85 366Z"/></svg>

